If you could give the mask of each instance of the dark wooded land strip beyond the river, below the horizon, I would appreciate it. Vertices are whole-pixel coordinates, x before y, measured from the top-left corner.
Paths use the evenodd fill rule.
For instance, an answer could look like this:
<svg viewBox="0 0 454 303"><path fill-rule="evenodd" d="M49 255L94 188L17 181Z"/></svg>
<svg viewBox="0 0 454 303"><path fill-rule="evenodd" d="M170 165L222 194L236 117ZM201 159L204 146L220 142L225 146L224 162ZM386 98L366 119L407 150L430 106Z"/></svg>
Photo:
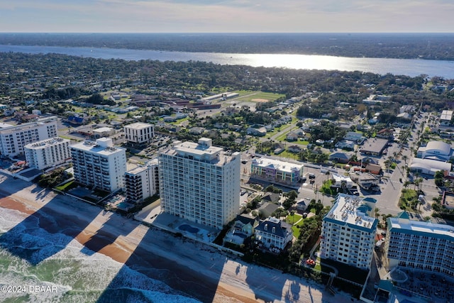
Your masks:
<svg viewBox="0 0 454 303"><path fill-rule="evenodd" d="M454 60L454 33L0 33L0 44Z"/></svg>

